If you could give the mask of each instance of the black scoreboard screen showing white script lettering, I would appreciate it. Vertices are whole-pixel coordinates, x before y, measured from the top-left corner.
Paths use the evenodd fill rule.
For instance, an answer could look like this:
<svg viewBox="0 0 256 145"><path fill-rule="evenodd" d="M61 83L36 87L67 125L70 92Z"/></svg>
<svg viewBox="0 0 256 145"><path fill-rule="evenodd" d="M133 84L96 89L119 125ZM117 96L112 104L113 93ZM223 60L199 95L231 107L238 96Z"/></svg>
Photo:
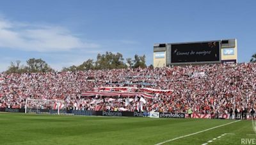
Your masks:
<svg viewBox="0 0 256 145"><path fill-rule="evenodd" d="M172 44L171 63L218 62L220 42Z"/></svg>

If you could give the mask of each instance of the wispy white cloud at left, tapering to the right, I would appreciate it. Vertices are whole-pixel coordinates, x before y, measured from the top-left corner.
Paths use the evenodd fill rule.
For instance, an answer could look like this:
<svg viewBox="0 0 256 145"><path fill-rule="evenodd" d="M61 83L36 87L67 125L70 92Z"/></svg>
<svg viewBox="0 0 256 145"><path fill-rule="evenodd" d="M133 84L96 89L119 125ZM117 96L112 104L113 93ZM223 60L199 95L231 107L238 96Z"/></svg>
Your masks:
<svg viewBox="0 0 256 145"><path fill-rule="evenodd" d="M29 25L0 18L0 48L35 52L58 52L74 48L97 48L63 27Z"/></svg>

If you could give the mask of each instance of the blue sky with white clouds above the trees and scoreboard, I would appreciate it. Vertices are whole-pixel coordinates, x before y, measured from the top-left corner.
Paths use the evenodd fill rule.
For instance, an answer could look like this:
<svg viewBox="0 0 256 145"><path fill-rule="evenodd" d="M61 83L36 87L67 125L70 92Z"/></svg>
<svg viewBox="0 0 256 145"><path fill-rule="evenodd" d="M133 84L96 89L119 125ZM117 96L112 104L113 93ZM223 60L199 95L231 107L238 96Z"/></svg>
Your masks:
<svg viewBox="0 0 256 145"><path fill-rule="evenodd" d="M120 52L146 55L154 43L236 38L239 62L256 48L256 1L1 1L0 72L41 58L54 69Z"/></svg>

